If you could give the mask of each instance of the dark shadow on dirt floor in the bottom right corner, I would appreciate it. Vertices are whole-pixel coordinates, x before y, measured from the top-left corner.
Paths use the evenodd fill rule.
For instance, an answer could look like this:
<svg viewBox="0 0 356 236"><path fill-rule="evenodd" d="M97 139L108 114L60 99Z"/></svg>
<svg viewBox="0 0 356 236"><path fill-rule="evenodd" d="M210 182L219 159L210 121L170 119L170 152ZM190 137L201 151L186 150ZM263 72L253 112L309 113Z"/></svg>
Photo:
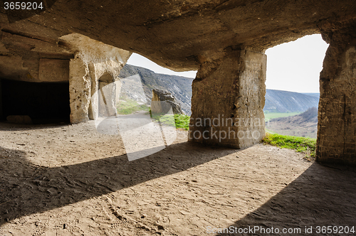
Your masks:
<svg viewBox="0 0 356 236"><path fill-rule="evenodd" d="M318 226L319 230L332 226L335 232L318 233ZM356 231L356 168L313 163L268 202L231 225L229 232L219 235L355 235L341 233L340 226ZM261 227L274 231L268 233ZM305 232L305 227L313 231ZM283 229L292 230L283 233Z"/></svg>

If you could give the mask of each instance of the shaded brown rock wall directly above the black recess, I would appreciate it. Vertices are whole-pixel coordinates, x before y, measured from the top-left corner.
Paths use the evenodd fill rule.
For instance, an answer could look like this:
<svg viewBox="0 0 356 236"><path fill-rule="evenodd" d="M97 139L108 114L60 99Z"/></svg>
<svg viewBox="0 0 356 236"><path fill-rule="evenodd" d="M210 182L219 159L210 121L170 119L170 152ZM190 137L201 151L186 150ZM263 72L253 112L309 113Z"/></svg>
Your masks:
<svg viewBox="0 0 356 236"><path fill-rule="evenodd" d="M73 53L54 39L0 31L0 77L26 82L66 82Z"/></svg>

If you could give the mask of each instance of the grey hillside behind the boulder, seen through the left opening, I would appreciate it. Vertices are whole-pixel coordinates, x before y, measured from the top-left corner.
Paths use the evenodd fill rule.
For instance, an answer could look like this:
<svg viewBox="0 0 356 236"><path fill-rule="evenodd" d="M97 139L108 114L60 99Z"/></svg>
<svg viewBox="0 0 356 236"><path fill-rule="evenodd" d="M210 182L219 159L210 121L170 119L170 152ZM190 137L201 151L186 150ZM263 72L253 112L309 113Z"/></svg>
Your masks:
<svg viewBox="0 0 356 236"><path fill-rule="evenodd" d="M132 75L140 75L143 90L145 91L147 102L149 104L152 100L153 89L168 90L172 93L172 95L174 95L174 97L177 98L184 113L188 115L192 114L192 78L157 74L152 70L128 64L122 68L119 77L125 78Z"/></svg>

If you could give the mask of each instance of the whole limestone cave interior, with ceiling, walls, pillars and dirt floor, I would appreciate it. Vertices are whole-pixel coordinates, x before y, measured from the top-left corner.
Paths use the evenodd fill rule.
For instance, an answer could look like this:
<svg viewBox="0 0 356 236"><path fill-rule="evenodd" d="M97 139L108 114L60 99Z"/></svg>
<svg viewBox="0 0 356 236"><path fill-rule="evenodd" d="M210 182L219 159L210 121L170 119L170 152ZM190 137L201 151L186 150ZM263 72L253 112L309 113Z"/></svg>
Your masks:
<svg viewBox="0 0 356 236"><path fill-rule="evenodd" d="M28 116L36 125L0 122L0 235L251 235L256 226L355 234L355 0L43 0L31 11L8 2L0 120ZM310 160L261 143L259 121L266 50L315 33L329 47ZM189 130L173 129L174 144L135 160L127 154L161 139L98 125L109 120L100 108L117 118L108 83L132 53L198 71ZM220 117L246 123L197 122ZM68 123L42 126L58 122Z"/></svg>

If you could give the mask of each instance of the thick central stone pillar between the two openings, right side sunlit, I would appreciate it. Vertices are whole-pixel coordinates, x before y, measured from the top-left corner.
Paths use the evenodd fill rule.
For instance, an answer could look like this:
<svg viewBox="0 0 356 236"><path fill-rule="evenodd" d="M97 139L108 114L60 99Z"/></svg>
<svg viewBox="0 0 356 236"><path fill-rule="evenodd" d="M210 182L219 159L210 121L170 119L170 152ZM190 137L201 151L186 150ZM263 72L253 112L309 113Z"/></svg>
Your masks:
<svg viewBox="0 0 356 236"><path fill-rule="evenodd" d="M192 85L189 141L244 149L265 136L266 55L248 50L201 63Z"/></svg>

